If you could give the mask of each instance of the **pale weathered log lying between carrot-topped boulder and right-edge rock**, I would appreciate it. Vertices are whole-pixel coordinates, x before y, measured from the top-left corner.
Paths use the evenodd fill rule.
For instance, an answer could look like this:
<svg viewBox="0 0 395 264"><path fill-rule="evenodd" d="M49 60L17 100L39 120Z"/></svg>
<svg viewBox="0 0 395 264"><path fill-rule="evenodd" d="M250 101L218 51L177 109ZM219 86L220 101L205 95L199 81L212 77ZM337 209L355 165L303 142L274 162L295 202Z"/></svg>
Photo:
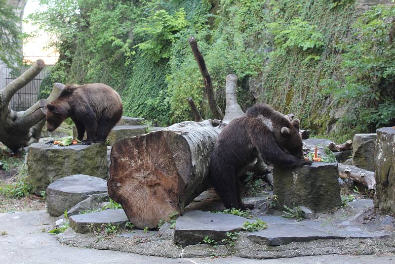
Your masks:
<svg viewBox="0 0 395 264"><path fill-rule="evenodd" d="M370 190L376 190L376 179L374 172L369 172L351 165L339 163L339 177L342 179L349 178L353 181L360 182Z"/></svg>

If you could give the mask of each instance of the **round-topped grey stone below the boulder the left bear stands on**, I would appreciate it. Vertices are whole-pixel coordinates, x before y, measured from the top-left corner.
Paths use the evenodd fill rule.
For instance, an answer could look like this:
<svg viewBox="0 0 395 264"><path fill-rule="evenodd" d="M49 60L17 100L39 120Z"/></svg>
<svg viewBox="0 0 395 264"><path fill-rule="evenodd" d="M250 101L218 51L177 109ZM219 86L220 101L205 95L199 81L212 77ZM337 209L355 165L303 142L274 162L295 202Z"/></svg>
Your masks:
<svg viewBox="0 0 395 264"><path fill-rule="evenodd" d="M82 174L67 176L49 184L46 194L48 214L58 217L90 196L108 196L107 180Z"/></svg>

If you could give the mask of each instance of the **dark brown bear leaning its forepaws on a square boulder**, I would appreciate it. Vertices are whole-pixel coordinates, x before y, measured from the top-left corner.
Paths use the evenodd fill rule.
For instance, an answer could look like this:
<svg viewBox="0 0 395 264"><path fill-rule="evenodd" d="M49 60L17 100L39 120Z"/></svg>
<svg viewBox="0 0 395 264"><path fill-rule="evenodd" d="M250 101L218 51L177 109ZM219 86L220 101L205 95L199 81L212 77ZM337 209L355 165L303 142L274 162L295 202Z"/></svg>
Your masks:
<svg viewBox="0 0 395 264"><path fill-rule="evenodd" d="M310 165L303 157L300 121L290 121L266 104L256 104L231 121L211 152L209 177L228 209L245 209L238 174L258 154L275 166Z"/></svg>

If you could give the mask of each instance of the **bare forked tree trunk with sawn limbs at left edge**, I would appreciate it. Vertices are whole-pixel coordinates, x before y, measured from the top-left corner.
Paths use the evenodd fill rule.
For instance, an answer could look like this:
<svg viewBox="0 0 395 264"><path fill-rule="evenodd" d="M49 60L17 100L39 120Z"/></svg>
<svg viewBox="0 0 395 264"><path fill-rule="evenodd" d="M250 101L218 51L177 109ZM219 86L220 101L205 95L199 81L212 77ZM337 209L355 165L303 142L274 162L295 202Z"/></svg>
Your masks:
<svg viewBox="0 0 395 264"><path fill-rule="evenodd" d="M13 111L9 107L12 96L31 80L45 66L42 60L36 61L26 72L0 91L0 141L17 153L18 149L38 142L45 123L44 106L52 102L62 91L64 85L55 83L46 100L40 100L26 111Z"/></svg>

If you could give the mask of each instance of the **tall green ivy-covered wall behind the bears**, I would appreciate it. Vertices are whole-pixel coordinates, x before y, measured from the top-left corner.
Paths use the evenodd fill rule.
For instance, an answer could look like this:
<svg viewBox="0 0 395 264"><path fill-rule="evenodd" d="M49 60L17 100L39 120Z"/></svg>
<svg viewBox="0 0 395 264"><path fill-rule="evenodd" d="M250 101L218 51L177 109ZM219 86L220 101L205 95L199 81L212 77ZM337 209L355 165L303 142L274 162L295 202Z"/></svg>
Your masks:
<svg viewBox="0 0 395 264"><path fill-rule="evenodd" d="M52 82L103 82L125 114L168 125L192 119L192 96L210 118L188 38L204 55L217 100L238 76L246 109L266 102L304 127L342 140L395 116L395 8L361 0L41 0L34 19L57 34ZM76 11L77 10L77 11ZM364 12L366 11L366 12Z"/></svg>

